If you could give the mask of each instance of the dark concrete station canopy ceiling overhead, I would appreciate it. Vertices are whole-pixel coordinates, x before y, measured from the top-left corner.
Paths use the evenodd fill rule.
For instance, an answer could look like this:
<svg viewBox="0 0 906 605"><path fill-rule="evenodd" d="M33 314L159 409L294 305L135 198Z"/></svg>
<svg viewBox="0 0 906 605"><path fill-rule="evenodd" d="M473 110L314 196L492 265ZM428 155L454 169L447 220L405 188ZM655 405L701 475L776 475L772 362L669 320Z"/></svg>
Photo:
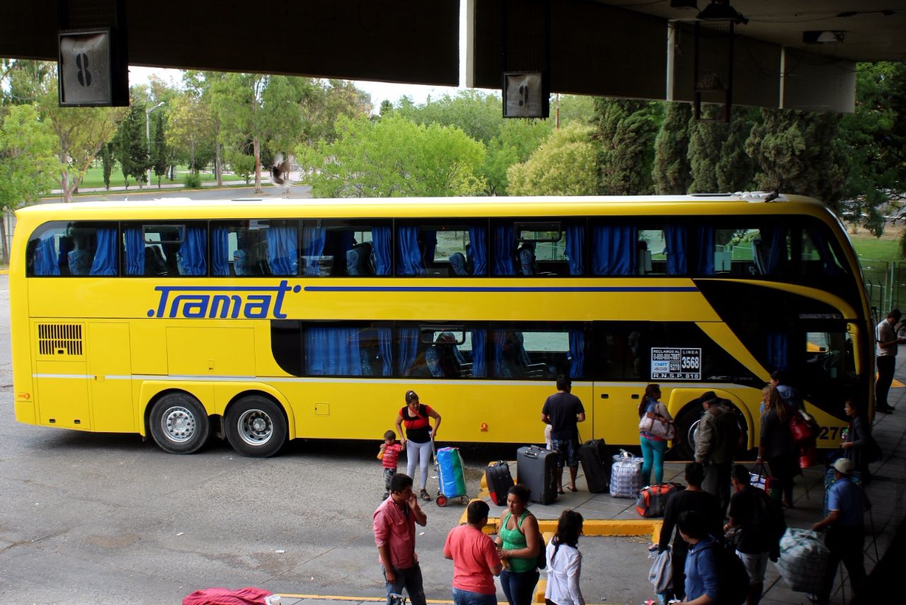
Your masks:
<svg viewBox="0 0 906 605"><path fill-rule="evenodd" d="M545 70L551 92L694 96L697 9L670 0L463 1L467 85L499 89L504 71ZM855 62L906 60L906 0L732 5L748 19L736 30L737 103L852 111ZM455 86L459 12L459 0L3 0L0 56L55 61L60 27L118 23L135 65ZM843 39L805 44L805 31Z"/></svg>

